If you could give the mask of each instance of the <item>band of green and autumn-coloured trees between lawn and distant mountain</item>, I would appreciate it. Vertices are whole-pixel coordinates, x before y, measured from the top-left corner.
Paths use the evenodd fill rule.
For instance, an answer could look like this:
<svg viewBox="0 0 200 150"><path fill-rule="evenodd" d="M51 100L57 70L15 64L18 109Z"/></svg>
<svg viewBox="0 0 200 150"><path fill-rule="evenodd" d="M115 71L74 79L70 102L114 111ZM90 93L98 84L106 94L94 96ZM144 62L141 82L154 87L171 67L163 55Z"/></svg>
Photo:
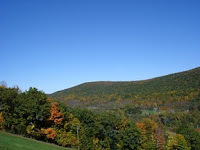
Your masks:
<svg viewBox="0 0 200 150"><path fill-rule="evenodd" d="M54 102L36 88L21 92L1 86L0 108L0 130L63 147L200 149L200 107L148 115L135 107L94 112Z"/></svg>

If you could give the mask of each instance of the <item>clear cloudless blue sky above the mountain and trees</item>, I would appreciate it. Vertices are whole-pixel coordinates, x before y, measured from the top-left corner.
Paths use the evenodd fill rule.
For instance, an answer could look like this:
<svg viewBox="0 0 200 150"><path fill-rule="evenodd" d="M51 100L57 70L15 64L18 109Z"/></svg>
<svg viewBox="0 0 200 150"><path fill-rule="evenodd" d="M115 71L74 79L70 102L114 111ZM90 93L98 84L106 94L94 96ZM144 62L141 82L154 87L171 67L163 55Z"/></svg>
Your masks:
<svg viewBox="0 0 200 150"><path fill-rule="evenodd" d="M52 93L200 66L199 0L0 0L0 81Z"/></svg>

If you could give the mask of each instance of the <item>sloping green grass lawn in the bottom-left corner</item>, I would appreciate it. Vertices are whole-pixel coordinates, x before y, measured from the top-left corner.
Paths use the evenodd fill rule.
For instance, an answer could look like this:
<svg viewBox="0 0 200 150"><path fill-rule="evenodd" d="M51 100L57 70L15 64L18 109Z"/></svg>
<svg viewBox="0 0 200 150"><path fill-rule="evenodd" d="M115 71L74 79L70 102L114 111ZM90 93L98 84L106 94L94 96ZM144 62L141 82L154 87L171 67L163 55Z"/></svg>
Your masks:
<svg viewBox="0 0 200 150"><path fill-rule="evenodd" d="M54 144L40 142L34 139L1 132L0 150L70 150ZM72 149L71 149L72 150Z"/></svg>

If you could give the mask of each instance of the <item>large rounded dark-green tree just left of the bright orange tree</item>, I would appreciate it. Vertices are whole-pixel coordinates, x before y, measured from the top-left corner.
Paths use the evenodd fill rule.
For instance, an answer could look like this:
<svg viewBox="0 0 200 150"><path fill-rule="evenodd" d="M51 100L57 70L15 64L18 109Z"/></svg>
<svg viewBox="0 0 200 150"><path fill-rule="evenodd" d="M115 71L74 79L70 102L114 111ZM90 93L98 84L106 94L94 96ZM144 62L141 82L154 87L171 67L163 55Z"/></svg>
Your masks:
<svg viewBox="0 0 200 150"><path fill-rule="evenodd" d="M26 118L26 124L34 124L37 127L43 126L50 115L50 103L46 94L36 88L30 88L21 93L18 97L20 103L16 111L19 117Z"/></svg>

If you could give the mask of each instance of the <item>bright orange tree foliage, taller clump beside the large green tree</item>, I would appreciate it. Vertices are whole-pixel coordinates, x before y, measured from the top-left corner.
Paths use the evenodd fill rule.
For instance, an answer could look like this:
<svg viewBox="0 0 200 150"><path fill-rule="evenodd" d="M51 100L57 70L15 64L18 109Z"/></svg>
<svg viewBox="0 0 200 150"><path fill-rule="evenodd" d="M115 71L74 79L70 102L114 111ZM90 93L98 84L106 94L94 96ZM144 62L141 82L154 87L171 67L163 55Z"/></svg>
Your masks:
<svg viewBox="0 0 200 150"><path fill-rule="evenodd" d="M50 114L51 115L49 117L49 120L53 121L54 124L61 124L61 122L63 121L63 115L58 110L57 103L55 103L55 102L51 103Z"/></svg>

